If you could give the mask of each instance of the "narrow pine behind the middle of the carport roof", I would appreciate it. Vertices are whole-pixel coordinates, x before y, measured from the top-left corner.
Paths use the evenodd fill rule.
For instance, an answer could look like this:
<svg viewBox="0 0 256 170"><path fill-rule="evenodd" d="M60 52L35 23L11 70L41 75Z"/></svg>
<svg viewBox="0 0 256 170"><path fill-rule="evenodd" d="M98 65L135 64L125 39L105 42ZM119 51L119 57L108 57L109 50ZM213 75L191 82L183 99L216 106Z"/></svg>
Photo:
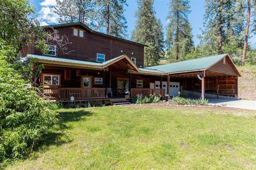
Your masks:
<svg viewBox="0 0 256 170"><path fill-rule="evenodd" d="M184 59L194 46L192 28L188 22L189 0L170 0L171 11L167 16L166 57Z"/></svg>

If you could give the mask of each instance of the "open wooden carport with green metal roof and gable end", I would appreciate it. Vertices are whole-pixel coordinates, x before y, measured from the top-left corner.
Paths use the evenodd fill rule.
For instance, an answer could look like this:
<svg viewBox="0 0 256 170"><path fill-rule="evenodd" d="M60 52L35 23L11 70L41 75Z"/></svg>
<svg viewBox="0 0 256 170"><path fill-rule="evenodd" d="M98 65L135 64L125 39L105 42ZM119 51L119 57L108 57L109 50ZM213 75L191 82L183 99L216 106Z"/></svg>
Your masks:
<svg viewBox="0 0 256 170"><path fill-rule="evenodd" d="M171 64L148 67L168 73L168 94L179 83L182 96L221 98L238 97L240 72L228 54L191 59ZM172 84L171 84L172 83Z"/></svg>

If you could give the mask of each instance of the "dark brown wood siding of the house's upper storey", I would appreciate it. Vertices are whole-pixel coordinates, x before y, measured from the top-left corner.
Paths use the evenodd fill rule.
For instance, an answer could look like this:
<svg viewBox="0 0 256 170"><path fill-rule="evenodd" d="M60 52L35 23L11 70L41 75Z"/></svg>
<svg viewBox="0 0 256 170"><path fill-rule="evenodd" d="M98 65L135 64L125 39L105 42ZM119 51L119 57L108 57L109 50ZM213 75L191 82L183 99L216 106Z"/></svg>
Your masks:
<svg viewBox="0 0 256 170"><path fill-rule="evenodd" d="M119 57L126 54L129 58L136 58L136 66L144 67L144 46L122 40L105 37L94 33L84 32L84 37L73 35L73 29L82 29L78 27L61 27L58 28L60 35L65 35L69 42L68 50L64 53L57 48L56 57L67 57L70 59L97 61L97 53L105 55L105 61L111 58ZM79 32L79 31L78 31ZM68 54L66 54L69 52ZM133 53L133 54L132 54ZM42 55L41 51L35 49L34 54Z"/></svg>

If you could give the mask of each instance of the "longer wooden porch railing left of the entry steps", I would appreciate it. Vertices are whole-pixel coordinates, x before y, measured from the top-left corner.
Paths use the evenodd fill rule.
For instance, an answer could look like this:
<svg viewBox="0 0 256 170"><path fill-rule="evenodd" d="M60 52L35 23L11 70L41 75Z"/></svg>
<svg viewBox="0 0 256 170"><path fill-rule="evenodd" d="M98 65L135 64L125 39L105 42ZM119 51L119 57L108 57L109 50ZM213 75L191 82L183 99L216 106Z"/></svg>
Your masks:
<svg viewBox="0 0 256 170"><path fill-rule="evenodd" d="M44 88L44 94L53 99L68 100L71 96L74 99L104 99L106 98L105 88Z"/></svg>

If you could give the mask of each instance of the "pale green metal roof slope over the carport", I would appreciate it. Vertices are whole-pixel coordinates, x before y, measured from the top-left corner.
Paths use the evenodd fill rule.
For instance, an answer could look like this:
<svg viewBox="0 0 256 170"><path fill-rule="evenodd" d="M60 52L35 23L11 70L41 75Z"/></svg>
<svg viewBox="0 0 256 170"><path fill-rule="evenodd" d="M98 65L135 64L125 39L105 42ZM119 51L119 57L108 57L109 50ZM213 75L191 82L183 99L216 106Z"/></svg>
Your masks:
<svg viewBox="0 0 256 170"><path fill-rule="evenodd" d="M147 69L153 69L153 70L162 71L165 73L201 70L201 69L206 69L210 67L211 65L213 65L214 63L216 63L226 55L227 54L220 54L217 56L196 58L196 59L185 60L185 61L180 61L176 63L147 67Z"/></svg>

